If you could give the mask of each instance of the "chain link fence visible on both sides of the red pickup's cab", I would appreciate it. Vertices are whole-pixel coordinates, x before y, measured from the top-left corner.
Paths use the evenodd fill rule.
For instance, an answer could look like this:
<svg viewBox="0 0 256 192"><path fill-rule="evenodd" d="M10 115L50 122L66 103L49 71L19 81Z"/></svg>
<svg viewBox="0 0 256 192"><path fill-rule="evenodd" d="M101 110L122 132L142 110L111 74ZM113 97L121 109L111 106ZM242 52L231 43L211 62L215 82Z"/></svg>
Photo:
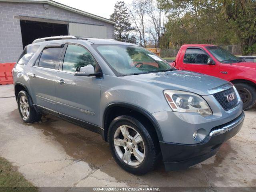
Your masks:
<svg viewBox="0 0 256 192"><path fill-rule="evenodd" d="M225 50L229 51L234 55L241 55L242 49L241 45L223 45L221 46ZM177 49L163 49L160 51L160 56L162 58L175 58L180 48Z"/></svg>

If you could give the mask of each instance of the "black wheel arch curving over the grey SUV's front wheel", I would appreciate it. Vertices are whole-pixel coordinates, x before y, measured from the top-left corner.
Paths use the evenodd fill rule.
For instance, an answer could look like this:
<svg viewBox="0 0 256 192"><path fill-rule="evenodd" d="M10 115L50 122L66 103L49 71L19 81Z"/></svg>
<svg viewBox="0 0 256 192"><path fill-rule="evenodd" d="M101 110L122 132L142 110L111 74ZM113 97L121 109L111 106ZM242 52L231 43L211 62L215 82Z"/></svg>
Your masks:
<svg viewBox="0 0 256 192"><path fill-rule="evenodd" d="M113 114L114 112L114 114ZM118 114L119 112L121 112L120 114ZM107 141L108 140L108 128L110 123L112 122L112 120L116 117L116 116L120 116L120 115L139 115L140 118L144 118L144 120L148 120L148 122L152 125L152 128L154 130L154 132L156 132L158 141L162 140L162 133L160 131L160 127L158 125L158 123L156 122L156 120L154 119L154 117L147 112L146 110L138 107L138 106L134 106L132 104L127 104L127 103L122 103L122 102L115 102L115 103L111 103L108 104L108 106L106 107L104 114L103 114L103 128L104 128L104 140Z"/></svg>

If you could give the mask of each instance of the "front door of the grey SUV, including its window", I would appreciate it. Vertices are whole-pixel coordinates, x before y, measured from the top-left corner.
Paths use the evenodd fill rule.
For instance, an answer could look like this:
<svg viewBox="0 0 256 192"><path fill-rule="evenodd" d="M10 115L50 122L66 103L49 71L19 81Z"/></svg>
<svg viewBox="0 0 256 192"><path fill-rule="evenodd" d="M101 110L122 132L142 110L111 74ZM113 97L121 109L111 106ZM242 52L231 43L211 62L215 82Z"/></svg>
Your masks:
<svg viewBox="0 0 256 192"><path fill-rule="evenodd" d="M77 44L65 47L63 63L56 74L57 110L71 118L99 125L102 78L74 76L77 67L92 64L98 70L98 64L85 47Z"/></svg>

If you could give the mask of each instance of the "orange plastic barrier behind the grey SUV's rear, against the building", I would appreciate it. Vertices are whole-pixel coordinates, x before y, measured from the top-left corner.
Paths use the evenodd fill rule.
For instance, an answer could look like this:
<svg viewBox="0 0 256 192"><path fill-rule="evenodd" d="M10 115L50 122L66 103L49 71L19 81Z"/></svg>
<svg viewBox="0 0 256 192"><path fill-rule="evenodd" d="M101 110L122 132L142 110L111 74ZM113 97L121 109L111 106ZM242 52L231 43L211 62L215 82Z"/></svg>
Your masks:
<svg viewBox="0 0 256 192"><path fill-rule="evenodd" d="M13 84L12 68L15 63L0 63L0 85Z"/></svg>

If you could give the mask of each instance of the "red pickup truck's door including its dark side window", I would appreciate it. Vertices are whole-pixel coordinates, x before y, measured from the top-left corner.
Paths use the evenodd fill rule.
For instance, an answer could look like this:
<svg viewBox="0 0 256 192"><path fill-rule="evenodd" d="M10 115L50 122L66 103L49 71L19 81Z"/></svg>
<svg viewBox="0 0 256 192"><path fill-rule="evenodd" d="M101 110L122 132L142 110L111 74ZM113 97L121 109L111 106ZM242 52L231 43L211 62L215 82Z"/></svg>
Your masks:
<svg viewBox="0 0 256 192"><path fill-rule="evenodd" d="M182 60L182 67L178 69L185 69L211 76L218 76L218 65L208 64L210 56L201 48L186 48L184 58Z"/></svg>

